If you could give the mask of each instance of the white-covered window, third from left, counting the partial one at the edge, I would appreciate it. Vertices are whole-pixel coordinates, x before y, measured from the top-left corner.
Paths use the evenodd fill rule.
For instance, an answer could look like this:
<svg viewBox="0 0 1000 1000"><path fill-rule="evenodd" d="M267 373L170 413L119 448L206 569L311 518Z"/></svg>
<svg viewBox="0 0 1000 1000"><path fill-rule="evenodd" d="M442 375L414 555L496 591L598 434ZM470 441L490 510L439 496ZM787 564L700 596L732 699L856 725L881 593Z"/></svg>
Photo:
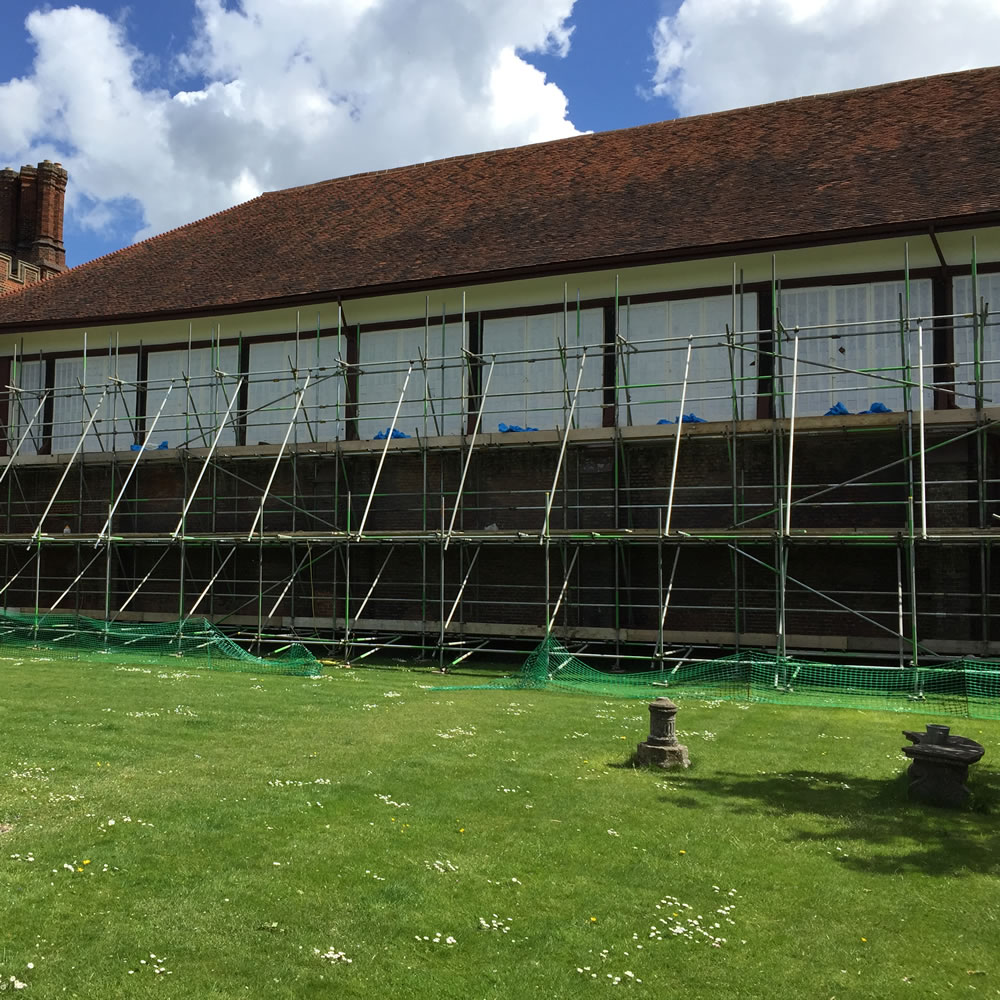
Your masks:
<svg viewBox="0 0 1000 1000"><path fill-rule="evenodd" d="M216 366L221 375L216 374ZM146 429L160 406L163 411L150 441L170 448L207 448L236 391L239 352L235 346L200 347L188 351L153 351L149 355L146 391ZM170 389L169 395L167 393ZM235 444L234 406L220 444Z"/></svg>

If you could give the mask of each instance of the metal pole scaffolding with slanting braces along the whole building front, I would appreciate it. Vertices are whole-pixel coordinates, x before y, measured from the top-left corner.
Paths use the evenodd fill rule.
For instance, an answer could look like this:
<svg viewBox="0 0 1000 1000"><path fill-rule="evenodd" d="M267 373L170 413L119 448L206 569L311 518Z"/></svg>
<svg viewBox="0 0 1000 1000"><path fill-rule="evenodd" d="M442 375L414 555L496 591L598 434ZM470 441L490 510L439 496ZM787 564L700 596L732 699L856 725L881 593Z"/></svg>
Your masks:
<svg viewBox="0 0 1000 1000"><path fill-rule="evenodd" d="M442 669L554 634L630 669L997 655L1000 278L973 244L955 282L943 314L908 255L826 314L774 262L711 300L563 284L541 347L463 293L395 340L341 307L259 343L21 349L5 606Z"/></svg>

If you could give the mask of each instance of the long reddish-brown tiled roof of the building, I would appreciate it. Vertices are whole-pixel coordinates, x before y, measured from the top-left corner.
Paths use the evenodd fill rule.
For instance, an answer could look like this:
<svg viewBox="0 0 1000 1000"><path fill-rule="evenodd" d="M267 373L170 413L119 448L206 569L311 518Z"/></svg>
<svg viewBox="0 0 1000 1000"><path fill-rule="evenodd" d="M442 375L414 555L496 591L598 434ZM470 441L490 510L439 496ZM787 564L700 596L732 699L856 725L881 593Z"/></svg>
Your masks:
<svg viewBox="0 0 1000 1000"><path fill-rule="evenodd" d="M998 67L267 193L0 297L0 329L620 266L993 215Z"/></svg>

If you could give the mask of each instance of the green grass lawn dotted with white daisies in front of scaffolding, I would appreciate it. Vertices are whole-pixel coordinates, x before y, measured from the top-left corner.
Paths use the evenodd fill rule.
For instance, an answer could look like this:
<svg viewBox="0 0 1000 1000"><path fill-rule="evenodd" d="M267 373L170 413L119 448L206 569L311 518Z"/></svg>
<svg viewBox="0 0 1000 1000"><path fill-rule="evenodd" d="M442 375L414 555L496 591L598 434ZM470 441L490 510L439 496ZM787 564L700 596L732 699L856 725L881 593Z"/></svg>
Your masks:
<svg viewBox="0 0 1000 1000"><path fill-rule="evenodd" d="M950 813L899 780L932 717L683 700L692 767L654 773L624 766L643 702L28 655L0 658L23 996L1000 995L1000 723L942 720L986 746Z"/></svg>

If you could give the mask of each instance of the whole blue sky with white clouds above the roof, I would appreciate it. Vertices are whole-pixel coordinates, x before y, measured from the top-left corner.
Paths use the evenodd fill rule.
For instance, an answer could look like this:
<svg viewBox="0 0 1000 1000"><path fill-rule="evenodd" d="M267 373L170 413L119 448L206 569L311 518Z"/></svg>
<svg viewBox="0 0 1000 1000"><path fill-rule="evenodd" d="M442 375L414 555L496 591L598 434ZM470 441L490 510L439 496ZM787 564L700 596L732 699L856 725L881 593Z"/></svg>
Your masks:
<svg viewBox="0 0 1000 1000"><path fill-rule="evenodd" d="M262 191L997 62L1000 0L5 0L76 265Z"/></svg>

